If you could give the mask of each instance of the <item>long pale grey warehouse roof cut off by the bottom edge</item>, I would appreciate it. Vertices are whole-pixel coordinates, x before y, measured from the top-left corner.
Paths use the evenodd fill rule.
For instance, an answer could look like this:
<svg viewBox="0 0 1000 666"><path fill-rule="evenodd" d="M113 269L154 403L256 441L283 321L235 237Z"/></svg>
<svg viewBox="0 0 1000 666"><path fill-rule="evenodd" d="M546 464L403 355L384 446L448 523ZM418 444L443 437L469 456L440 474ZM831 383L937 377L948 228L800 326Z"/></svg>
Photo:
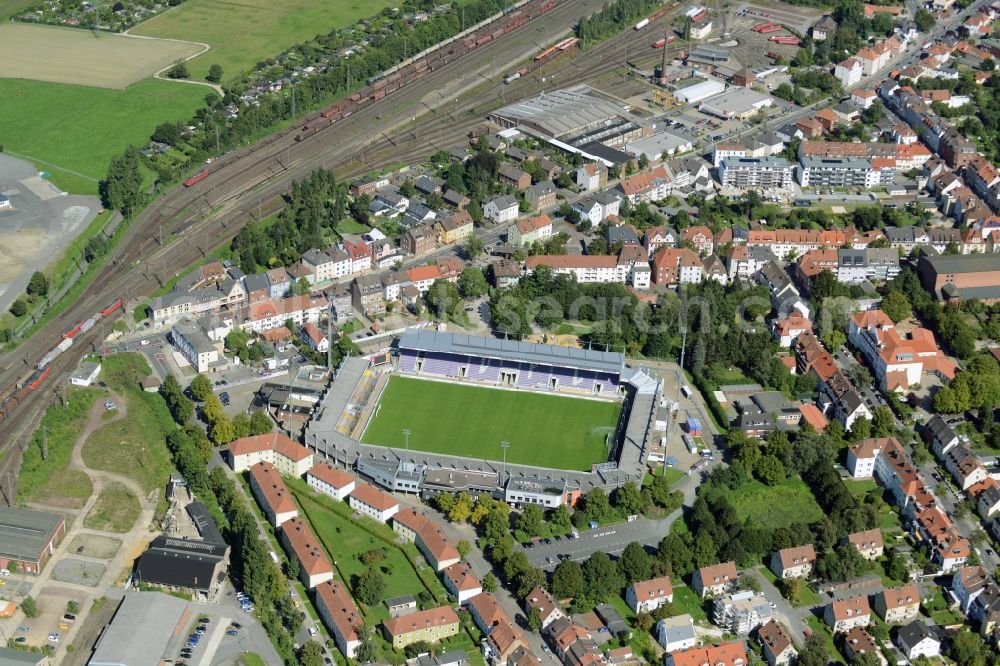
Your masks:
<svg viewBox="0 0 1000 666"><path fill-rule="evenodd" d="M156 666L185 618L187 602L162 592L129 592L101 634L89 666ZM171 655L173 656L173 655Z"/></svg>

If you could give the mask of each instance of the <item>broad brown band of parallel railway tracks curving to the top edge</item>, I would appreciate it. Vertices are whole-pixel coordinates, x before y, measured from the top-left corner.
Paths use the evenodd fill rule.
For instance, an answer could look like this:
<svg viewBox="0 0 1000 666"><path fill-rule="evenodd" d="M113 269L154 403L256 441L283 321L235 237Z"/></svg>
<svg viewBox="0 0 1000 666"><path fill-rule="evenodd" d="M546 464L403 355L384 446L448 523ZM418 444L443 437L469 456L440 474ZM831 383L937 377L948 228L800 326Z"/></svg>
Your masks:
<svg viewBox="0 0 1000 666"><path fill-rule="evenodd" d="M215 170L193 188L167 192L132 221L107 264L79 299L17 350L0 358L0 386L13 384L59 341L63 331L100 309L109 296L125 296L133 304L149 297L176 271L204 258L250 219L280 210L282 195L293 180L317 168L333 169L346 179L392 163L420 161L429 152L464 143L468 131L483 122L482 114L470 111L483 107L484 100L494 100L493 106L498 107L505 98L509 102L535 95L546 89L547 83L548 88L553 87L551 79L543 80L548 68L513 86L505 86L502 80L508 67L568 32L581 16L602 4L603 0L564 0L526 26L305 139L295 141L300 122L223 156L216 161ZM552 71L568 73L574 81L595 80L624 67L628 53L659 54L649 48L654 34L649 30L626 31L584 53L560 57ZM465 94L468 89L474 94ZM442 91L448 95L443 96ZM455 101L449 103L452 99ZM174 236L162 246L156 240L161 230ZM109 332L110 322L101 322L79 336L53 363L55 381L30 394L6 420L4 446L14 450L0 452L0 488L8 502L20 464L17 445L27 441L42 410L51 404L56 394L53 387L60 385L84 353L97 349Z"/></svg>

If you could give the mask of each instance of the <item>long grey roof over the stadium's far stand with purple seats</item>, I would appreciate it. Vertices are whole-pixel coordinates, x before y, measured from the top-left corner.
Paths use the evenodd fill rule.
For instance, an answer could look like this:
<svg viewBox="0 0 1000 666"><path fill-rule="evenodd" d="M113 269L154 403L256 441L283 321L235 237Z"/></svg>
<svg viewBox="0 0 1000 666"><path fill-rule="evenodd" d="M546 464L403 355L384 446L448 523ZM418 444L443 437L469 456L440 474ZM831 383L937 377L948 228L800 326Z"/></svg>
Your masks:
<svg viewBox="0 0 1000 666"><path fill-rule="evenodd" d="M603 372L620 373L625 365L625 355L618 352L556 347L518 340L498 340L428 330L407 330L399 340L399 348L442 354L486 356L505 361L527 361L555 365L561 368Z"/></svg>

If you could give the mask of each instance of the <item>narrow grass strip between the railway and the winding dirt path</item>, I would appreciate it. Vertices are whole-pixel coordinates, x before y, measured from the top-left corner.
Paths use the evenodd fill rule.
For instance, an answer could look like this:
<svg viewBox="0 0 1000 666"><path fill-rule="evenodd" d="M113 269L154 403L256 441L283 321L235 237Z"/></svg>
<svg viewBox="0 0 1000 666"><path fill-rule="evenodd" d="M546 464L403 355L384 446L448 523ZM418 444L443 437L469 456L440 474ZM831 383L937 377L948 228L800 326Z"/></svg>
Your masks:
<svg viewBox="0 0 1000 666"><path fill-rule="evenodd" d="M73 444L87 422L90 407L103 395L106 395L104 391L96 388L73 387L66 392L65 407L56 402L48 408L42 417L44 428L35 431L24 452L18 476L18 499L35 502L47 498L46 493L53 487L54 477L61 475L69 467ZM48 442L48 457L45 459L42 458L43 431ZM78 485L77 490L78 493L70 497L78 497L82 493ZM66 492L66 489L60 488L60 492Z"/></svg>

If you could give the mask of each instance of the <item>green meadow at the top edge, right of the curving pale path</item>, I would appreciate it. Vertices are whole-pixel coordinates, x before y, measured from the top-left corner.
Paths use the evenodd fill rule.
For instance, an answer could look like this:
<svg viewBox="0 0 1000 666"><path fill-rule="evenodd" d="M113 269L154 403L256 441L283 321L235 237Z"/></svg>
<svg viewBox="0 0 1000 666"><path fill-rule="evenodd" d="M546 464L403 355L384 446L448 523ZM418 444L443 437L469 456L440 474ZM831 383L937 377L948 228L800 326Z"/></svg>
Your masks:
<svg viewBox="0 0 1000 666"><path fill-rule="evenodd" d="M192 78L203 79L213 64L221 65L228 78L294 44L396 4L394 0L244 0L239 4L198 0L174 7L132 33L205 42L212 48L188 63Z"/></svg>

